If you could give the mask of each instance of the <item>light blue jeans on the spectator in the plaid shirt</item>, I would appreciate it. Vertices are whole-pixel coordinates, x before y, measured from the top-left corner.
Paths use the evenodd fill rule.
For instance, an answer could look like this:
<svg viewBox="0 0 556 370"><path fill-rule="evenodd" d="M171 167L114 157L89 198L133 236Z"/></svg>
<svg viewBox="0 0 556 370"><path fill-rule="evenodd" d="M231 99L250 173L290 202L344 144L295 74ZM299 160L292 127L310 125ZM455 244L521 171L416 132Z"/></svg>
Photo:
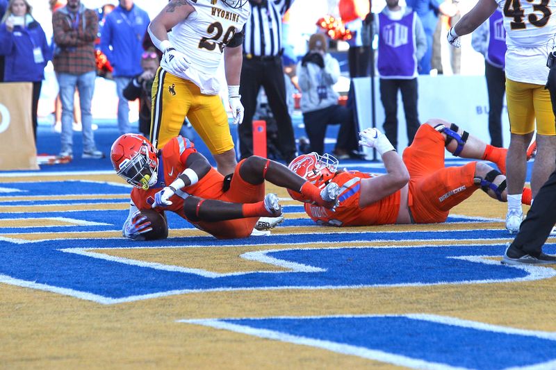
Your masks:
<svg viewBox="0 0 556 370"><path fill-rule="evenodd" d="M60 85L60 100L62 101L62 151L72 152L74 119L74 94L75 87L79 91L79 103L81 104L81 124L83 124L83 151L95 151L95 135L92 133L91 100L95 91L95 71L84 74L59 73L58 85Z"/></svg>

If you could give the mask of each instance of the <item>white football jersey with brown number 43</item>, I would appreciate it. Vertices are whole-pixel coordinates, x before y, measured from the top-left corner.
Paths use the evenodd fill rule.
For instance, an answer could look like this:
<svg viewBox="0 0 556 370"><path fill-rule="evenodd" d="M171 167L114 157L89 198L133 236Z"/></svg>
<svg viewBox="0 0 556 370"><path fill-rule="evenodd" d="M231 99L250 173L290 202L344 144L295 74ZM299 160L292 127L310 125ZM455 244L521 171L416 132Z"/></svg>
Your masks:
<svg viewBox="0 0 556 370"><path fill-rule="evenodd" d="M556 0L496 0L502 10L506 44L541 47L556 33Z"/></svg>

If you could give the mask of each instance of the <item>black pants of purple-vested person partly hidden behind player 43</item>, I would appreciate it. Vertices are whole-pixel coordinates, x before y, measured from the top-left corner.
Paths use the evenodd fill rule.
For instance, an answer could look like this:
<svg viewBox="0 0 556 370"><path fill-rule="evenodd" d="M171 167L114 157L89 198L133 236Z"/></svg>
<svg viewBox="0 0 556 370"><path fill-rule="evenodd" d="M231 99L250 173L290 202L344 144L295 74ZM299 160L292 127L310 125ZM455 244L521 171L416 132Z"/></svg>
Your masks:
<svg viewBox="0 0 556 370"><path fill-rule="evenodd" d="M506 91L506 74L504 69L494 67L484 61L486 90L489 92L489 133L491 145L501 148L502 144L502 106Z"/></svg>

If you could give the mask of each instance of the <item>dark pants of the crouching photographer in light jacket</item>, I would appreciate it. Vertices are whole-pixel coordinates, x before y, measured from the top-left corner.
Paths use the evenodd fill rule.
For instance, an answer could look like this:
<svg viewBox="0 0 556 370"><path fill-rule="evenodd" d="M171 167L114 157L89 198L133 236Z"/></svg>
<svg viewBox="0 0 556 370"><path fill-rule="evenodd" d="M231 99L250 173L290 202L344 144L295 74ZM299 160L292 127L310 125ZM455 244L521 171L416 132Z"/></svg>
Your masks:
<svg viewBox="0 0 556 370"><path fill-rule="evenodd" d="M326 128L329 124L341 125L336 140L336 149L345 149L348 152L358 149L353 112L350 109L336 104L313 110L303 113L303 122L309 142L311 142L311 151L316 151L321 155L324 153Z"/></svg>

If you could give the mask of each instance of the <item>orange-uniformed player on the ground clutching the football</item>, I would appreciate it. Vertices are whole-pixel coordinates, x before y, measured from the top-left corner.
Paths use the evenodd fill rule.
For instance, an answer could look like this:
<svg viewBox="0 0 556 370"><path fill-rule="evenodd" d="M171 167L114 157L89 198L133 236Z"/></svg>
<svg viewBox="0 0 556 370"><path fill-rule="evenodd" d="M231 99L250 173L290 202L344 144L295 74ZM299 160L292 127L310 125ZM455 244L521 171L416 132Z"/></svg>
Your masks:
<svg viewBox="0 0 556 370"><path fill-rule="evenodd" d="M151 208L175 212L219 239L247 237L259 217L281 215L276 194L265 196L265 180L297 190L323 208L332 208L339 192L336 184L321 190L288 167L256 156L242 160L233 176L224 178L181 136L156 150L145 137L124 134L112 145L111 160L117 175L133 185L122 229L131 239L143 239L152 230L140 212Z"/></svg>

